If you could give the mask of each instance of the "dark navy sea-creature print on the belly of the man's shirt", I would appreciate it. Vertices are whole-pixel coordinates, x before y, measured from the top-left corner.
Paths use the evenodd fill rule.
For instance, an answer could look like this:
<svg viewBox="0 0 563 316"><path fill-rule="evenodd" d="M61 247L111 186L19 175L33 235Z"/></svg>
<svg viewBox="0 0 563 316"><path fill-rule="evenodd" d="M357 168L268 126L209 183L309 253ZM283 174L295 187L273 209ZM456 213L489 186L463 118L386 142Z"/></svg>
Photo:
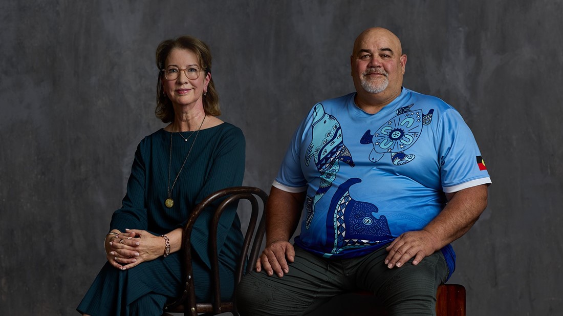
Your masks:
<svg viewBox="0 0 563 316"><path fill-rule="evenodd" d="M377 217L377 206L356 201L350 196L350 186L360 182L358 178L347 180L338 187L330 202L327 227L334 226L334 231L327 232L327 237L328 240L334 239L332 253L371 246L392 238L387 218L383 215Z"/></svg>

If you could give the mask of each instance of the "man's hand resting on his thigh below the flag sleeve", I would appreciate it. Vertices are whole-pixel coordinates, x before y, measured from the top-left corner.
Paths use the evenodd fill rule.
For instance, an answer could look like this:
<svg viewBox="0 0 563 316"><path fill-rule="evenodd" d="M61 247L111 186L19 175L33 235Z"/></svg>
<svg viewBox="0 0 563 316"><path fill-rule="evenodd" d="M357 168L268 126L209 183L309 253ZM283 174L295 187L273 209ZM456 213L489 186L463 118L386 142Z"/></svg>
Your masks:
<svg viewBox="0 0 563 316"><path fill-rule="evenodd" d="M385 264L389 269L394 266L400 268L412 257L414 257L413 265L417 265L422 259L439 250L434 237L426 230L403 233L385 249L389 252L385 258Z"/></svg>

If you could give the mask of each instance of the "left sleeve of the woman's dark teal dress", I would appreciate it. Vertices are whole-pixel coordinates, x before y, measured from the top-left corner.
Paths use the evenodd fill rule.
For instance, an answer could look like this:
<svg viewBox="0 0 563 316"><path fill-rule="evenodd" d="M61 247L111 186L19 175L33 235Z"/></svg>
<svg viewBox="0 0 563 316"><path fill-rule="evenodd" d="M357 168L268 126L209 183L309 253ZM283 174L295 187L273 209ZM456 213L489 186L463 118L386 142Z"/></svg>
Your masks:
<svg viewBox="0 0 563 316"><path fill-rule="evenodd" d="M146 139L145 139L146 140ZM113 213L110 222L110 230L118 229L125 232L125 229L148 228L147 210L145 207L145 170L143 141L137 146L131 175L127 181L127 193L122 201L122 207Z"/></svg>

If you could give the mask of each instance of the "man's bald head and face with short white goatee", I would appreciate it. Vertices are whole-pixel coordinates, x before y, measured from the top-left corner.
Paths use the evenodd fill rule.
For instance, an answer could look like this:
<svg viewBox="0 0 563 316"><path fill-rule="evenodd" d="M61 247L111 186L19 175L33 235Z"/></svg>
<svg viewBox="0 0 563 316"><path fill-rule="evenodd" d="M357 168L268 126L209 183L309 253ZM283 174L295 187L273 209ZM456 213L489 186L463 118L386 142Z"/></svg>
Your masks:
<svg viewBox="0 0 563 316"><path fill-rule="evenodd" d="M388 30L369 29L360 34L350 63L356 91L394 94L403 86L406 55L402 55L399 39Z"/></svg>

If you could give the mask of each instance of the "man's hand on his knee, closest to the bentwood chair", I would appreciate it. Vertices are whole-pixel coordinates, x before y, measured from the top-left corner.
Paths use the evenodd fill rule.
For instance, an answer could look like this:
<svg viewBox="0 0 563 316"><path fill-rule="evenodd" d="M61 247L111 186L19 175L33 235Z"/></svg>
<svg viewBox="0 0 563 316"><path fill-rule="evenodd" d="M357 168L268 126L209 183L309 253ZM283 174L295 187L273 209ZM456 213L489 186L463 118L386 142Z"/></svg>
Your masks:
<svg viewBox="0 0 563 316"><path fill-rule="evenodd" d="M266 246L256 261L256 272L260 272L263 268L268 275L271 276L275 272L281 278L284 273L289 272L287 262L293 262L294 257L295 250L291 243L274 241Z"/></svg>

